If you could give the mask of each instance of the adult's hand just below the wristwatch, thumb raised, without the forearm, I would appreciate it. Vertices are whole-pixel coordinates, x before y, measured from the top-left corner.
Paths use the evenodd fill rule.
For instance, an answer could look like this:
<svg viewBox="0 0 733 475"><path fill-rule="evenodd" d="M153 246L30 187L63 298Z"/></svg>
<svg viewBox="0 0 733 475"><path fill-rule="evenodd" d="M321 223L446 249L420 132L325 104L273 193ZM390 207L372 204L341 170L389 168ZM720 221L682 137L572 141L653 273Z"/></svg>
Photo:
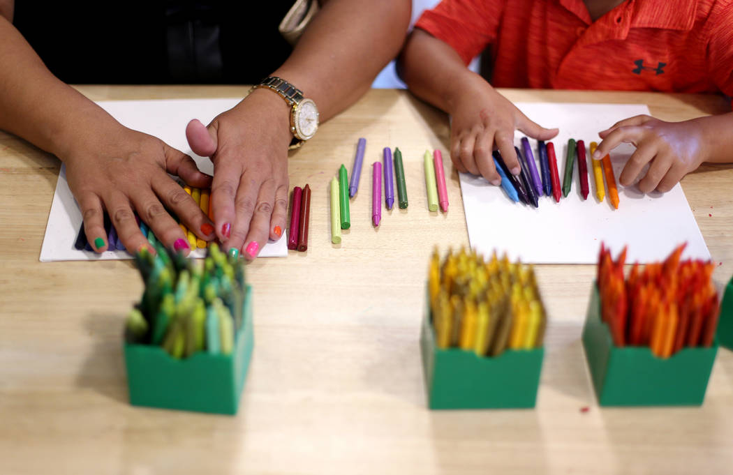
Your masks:
<svg viewBox="0 0 733 475"><path fill-rule="evenodd" d="M256 89L208 127L196 119L186 127L191 150L214 163L216 233L226 250L234 247L246 258L256 258L285 229L289 117L281 97Z"/></svg>

